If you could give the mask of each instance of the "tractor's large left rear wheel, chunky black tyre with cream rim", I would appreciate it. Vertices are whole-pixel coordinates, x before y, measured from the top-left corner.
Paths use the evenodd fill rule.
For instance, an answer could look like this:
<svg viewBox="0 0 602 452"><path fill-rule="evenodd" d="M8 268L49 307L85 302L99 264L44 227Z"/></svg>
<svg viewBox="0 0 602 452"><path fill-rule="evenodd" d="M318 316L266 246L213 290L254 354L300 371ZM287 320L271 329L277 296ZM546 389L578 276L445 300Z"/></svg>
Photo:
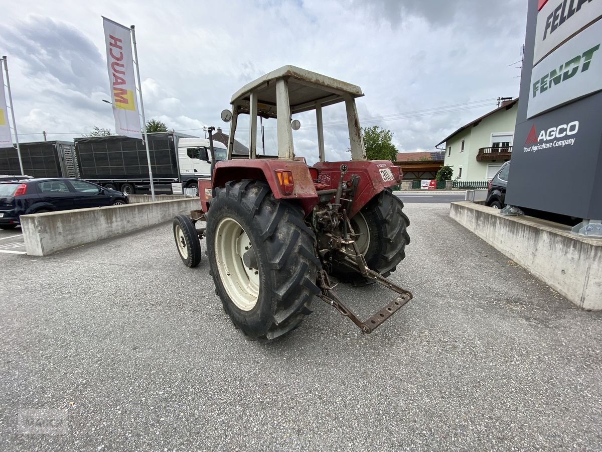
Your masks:
<svg viewBox="0 0 602 452"><path fill-rule="evenodd" d="M216 291L234 326L272 341L299 326L320 292L314 234L299 207L263 182L216 189L207 215L207 255Z"/></svg>

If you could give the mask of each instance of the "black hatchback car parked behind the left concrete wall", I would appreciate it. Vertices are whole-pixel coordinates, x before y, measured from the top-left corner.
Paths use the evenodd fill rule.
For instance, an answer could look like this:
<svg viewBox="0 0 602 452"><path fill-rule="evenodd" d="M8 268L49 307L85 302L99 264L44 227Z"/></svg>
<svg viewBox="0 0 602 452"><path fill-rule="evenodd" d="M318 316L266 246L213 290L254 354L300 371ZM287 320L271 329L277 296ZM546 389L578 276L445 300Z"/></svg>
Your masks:
<svg viewBox="0 0 602 452"><path fill-rule="evenodd" d="M71 178L0 182L0 229L13 229L19 216L56 210L128 204L128 195Z"/></svg>

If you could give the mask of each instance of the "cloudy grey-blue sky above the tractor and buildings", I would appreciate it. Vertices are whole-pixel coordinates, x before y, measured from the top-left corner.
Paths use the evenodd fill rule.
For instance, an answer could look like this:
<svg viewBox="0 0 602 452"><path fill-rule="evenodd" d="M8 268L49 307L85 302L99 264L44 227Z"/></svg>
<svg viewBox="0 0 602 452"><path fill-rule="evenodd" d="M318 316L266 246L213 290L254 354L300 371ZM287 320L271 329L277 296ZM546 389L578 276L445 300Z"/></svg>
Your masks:
<svg viewBox="0 0 602 452"><path fill-rule="evenodd" d="M22 141L114 130L101 16L136 26L148 118L203 136L243 84L294 64L358 84L362 125L391 129L399 151L448 133L517 96L526 2L520 0L146 0L3 2L2 55ZM445 108L443 108L445 107ZM442 113L443 111L443 113ZM434 113L434 114L433 114ZM344 118L324 110L325 124ZM304 116L302 124L313 124ZM274 121L274 120L271 120ZM265 123L266 147L275 131ZM325 128L330 160L348 159L346 128ZM247 141L241 130L237 139ZM317 158L315 129L294 133Z"/></svg>

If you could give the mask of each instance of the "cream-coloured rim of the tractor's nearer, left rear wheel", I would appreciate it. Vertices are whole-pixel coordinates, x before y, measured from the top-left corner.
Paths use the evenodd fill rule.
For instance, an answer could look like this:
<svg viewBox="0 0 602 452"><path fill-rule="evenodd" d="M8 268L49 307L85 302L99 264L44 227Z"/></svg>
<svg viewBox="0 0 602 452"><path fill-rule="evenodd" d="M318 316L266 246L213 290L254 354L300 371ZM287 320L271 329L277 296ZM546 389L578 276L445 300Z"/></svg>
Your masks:
<svg viewBox="0 0 602 452"><path fill-rule="evenodd" d="M244 265L243 256L252 248L244 228L232 218L223 218L216 228L216 262L228 297L243 311L250 311L259 297L259 269Z"/></svg>

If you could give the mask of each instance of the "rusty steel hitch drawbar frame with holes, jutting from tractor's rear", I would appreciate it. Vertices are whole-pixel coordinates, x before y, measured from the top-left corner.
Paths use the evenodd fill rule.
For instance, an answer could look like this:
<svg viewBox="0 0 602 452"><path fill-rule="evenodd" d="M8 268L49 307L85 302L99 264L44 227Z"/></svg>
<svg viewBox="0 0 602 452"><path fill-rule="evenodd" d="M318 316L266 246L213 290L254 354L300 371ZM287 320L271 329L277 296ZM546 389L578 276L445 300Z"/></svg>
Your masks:
<svg viewBox="0 0 602 452"><path fill-rule="evenodd" d="M363 256L361 256L360 254L359 257ZM330 286L328 274L324 270L318 272L318 283L320 284L320 289L322 290L322 293L320 293L318 297L324 300L327 304L330 304L330 306L334 307L336 310L338 310L338 312L340 312L344 316L349 317L349 319L353 323L358 325L358 328L362 330L362 333L369 334L372 331L376 330L376 328L378 328L380 325L382 325L386 319L388 319L399 309L401 309L401 307L408 303L408 301L412 300L414 295L412 295L412 292L409 292L409 290L402 289L402 287L391 283L391 281L388 281L386 278L383 278L377 272L370 270L365 265L364 268L361 269L359 268L360 265L358 265L358 263L355 260L347 259L349 259L349 257L346 256L345 263L347 263L350 267L358 269L362 274L365 275L365 277L376 281L380 285L385 286L387 289L391 289L394 292L399 293L400 295L395 300L391 301L391 303L383 307L383 309L379 310L379 312L368 318L365 322L362 322L355 314L355 312L349 309L349 307L347 307L346 304L344 304L343 301L339 297L337 297L337 294L334 293L334 291L332 290L334 289L334 287Z"/></svg>

